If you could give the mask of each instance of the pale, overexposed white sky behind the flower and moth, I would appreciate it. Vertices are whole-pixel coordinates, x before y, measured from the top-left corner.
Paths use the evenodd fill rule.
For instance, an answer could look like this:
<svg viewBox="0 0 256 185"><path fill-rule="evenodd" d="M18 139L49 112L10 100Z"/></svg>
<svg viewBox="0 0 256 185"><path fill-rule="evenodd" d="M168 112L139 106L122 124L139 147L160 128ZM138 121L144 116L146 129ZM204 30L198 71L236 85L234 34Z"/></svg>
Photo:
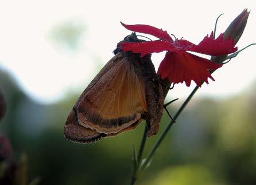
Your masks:
<svg viewBox="0 0 256 185"><path fill-rule="evenodd" d="M121 26L153 25L198 44L214 29L218 33L245 8L251 10L238 48L256 42L255 1L0 1L0 68L13 74L22 89L41 103L82 93L99 69L113 57L117 42L131 32ZM76 49L65 49L51 38L64 23L84 26ZM256 46L245 50L213 74L200 96L227 97L256 81ZM156 66L162 54L153 54ZM256 83L254 83L255 85ZM195 87L176 85L170 97L185 97Z"/></svg>

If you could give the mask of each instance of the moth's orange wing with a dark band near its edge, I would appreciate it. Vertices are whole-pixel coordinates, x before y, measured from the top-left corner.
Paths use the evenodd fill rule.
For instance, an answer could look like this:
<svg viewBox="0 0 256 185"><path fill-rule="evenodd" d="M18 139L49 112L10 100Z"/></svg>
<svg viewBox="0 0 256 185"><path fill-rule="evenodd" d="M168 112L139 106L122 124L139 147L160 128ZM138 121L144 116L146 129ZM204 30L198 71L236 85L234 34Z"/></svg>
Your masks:
<svg viewBox="0 0 256 185"><path fill-rule="evenodd" d="M99 133L122 131L147 111L145 86L133 61L122 52L117 54L77 101L78 122Z"/></svg>

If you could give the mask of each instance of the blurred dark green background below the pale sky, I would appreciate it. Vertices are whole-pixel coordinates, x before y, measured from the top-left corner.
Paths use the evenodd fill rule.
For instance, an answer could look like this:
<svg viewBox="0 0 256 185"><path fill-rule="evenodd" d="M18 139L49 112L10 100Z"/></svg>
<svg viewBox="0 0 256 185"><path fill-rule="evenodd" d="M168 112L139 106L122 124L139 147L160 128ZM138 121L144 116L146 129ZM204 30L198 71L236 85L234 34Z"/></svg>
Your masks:
<svg viewBox="0 0 256 185"><path fill-rule="evenodd" d="M9 147L1 159L22 168L25 179L15 184L129 184L144 123L95 144L72 143L64 138L64 123L79 95L38 104L4 70L0 89L7 105L0 148ZM254 90L222 101L192 100L137 184L256 184ZM161 129L168 122L164 115ZM148 139L145 151L158 136Z"/></svg>

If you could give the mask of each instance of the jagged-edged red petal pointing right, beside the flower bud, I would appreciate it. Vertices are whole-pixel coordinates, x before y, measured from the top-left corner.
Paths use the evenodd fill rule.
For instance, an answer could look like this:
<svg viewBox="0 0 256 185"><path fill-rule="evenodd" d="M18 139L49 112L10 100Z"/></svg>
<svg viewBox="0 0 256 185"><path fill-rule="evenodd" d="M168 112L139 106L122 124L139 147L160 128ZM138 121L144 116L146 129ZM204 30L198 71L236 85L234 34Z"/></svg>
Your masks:
<svg viewBox="0 0 256 185"><path fill-rule="evenodd" d="M234 40L227 38L223 41L223 33L219 35L218 38L214 40L214 32L208 37L208 34L204 39L192 48L187 48L185 50L197 53L208 54L211 56L220 56L223 54L230 54L237 51L235 47Z"/></svg>

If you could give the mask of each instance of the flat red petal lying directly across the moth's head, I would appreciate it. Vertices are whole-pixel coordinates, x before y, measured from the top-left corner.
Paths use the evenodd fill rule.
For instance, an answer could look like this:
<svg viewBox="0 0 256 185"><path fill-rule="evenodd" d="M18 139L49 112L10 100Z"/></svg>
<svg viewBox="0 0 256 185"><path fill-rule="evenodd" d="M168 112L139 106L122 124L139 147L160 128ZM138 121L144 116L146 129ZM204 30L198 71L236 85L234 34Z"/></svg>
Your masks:
<svg viewBox="0 0 256 185"><path fill-rule="evenodd" d="M148 42L123 42L119 43L124 52L141 53L141 57L149 53L160 53L165 50L176 50L170 42L148 41Z"/></svg>

